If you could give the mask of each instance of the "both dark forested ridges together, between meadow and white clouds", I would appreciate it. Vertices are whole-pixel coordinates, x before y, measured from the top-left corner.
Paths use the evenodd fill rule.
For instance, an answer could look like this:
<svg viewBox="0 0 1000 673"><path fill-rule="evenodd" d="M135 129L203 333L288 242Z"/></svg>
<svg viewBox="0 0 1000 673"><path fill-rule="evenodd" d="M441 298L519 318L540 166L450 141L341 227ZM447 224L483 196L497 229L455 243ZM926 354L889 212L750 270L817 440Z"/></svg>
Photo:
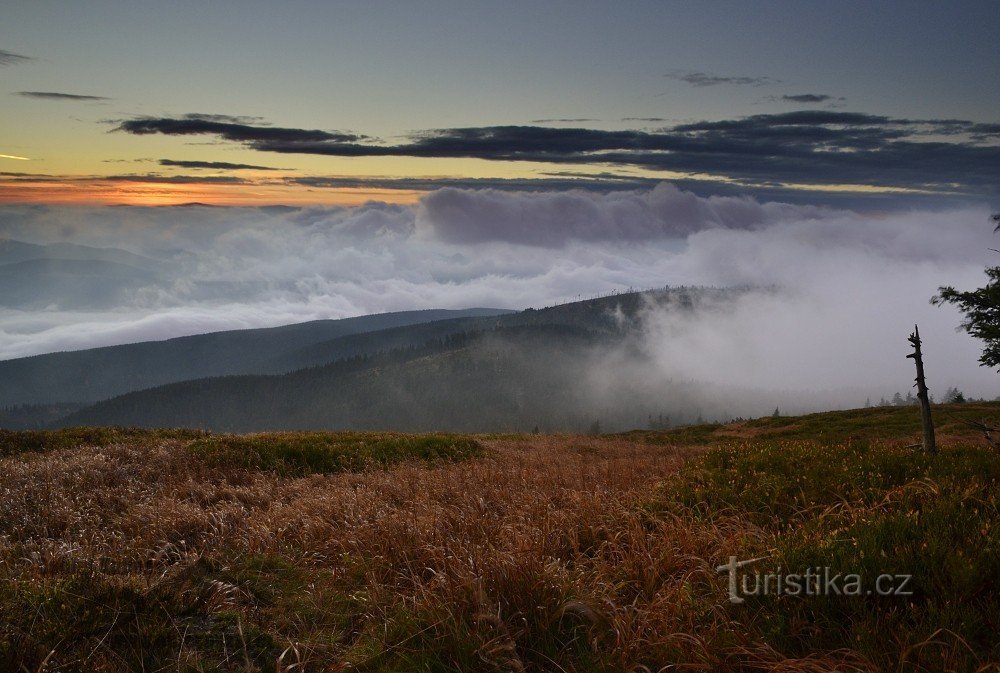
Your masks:
<svg viewBox="0 0 1000 673"><path fill-rule="evenodd" d="M0 425L220 431L541 431L724 413L737 393L671 381L647 310L718 310L678 288L542 309L416 311L219 332L0 362ZM745 394L745 391L739 391Z"/></svg>

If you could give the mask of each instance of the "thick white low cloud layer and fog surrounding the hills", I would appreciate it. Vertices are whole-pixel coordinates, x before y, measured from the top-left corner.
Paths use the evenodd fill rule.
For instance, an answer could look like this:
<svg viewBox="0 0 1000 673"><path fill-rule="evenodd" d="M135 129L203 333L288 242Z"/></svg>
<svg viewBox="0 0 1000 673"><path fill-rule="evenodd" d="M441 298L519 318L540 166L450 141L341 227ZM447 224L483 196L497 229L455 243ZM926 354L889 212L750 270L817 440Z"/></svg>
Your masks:
<svg viewBox="0 0 1000 673"><path fill-rule="evenodd" d="M939 285L982 284L996 262L989 214L867 216L671 185L443 189L415 207L7 206L2 238L121 248L157 260L158 276L111 308L0 309L0 357L381 311L540 307L628 287L753 286L735 308L653 315L647 346L661 373L850 388L830 403L857 405L906 391L918 322L932 390L992 398L997 375L978 367L979 344L955 331L952 307L928 302Z"/></svg>

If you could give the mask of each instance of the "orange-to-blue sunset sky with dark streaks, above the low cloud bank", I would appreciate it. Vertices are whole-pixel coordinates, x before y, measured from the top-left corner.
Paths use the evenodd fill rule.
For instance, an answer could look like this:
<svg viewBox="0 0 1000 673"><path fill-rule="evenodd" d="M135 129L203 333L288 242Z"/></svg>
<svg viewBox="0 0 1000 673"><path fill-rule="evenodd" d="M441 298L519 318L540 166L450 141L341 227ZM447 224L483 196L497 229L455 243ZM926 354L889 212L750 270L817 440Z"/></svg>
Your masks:
<svg viewBox="0 0 1000 673"><path fill-rule="evenodd" d="M998 34L994 0L5 3L0 201L995 204Z"/></svg>

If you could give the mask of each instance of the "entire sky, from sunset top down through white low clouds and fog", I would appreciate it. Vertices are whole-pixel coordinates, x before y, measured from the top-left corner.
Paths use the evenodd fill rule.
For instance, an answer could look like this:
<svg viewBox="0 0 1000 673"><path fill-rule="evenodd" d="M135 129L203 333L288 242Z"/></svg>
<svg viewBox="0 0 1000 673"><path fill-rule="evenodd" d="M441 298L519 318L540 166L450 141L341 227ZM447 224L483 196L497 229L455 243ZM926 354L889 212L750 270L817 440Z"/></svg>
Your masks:
<svg viewBox="0 0 1000 673"><path fill-rule="evenodd" d="M997 10L5 3L0 358L751 286L650 321L664 370L849 404L919 322L932 391L996 397L929 299L1000 247Z"/></svg>

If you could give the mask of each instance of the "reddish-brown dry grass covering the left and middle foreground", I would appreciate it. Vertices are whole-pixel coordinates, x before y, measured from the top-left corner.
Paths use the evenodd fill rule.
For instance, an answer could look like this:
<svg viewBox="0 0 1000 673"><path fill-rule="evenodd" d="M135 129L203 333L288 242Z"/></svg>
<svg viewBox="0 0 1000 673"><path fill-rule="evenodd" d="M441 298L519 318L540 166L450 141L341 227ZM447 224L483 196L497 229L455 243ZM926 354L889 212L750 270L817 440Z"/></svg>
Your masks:
<svg viewBox="0 0 1000 673"><path fill-rule="evenodd" d="M728 603L713 562L767 533L644 509L700 449L481 441L294 478L184 440L0 460L9 670L877 670L789 658Z"/></svg>

